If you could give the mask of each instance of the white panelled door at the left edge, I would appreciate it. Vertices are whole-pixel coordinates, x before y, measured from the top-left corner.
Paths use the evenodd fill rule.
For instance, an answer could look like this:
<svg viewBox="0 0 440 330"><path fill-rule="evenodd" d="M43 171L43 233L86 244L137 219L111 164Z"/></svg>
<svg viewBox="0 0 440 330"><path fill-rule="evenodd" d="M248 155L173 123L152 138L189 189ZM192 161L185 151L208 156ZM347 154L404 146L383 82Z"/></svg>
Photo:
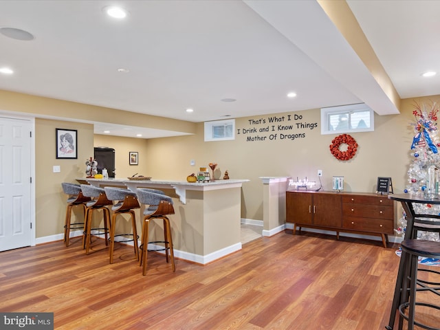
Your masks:
<svg viewBox="0 0 440 330"><path fill-rule="evenodd" d="M31 131L0 117L0 251L31 245Z"/></svg>

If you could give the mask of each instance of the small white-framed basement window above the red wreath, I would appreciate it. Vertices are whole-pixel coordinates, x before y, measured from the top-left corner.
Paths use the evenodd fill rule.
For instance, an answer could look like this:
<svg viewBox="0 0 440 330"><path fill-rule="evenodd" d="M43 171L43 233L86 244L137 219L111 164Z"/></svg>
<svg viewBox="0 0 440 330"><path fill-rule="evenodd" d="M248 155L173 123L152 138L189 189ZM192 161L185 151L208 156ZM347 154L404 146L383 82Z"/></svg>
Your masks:
<svg viewBox="0 0 440 330"><path fill-rule="evenodd" d="M365 103L321 109L321 134L374 131L374 111Z"/></svg>

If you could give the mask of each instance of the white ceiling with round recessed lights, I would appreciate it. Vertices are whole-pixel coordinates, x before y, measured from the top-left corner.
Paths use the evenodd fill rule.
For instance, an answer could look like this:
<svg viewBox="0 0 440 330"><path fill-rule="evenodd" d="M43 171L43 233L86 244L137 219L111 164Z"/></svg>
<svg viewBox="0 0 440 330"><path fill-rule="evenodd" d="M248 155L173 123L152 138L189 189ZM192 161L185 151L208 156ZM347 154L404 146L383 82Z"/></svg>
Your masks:
<svg viewBox="0 0 440 330"><path fill-rule="evenodd" d="M347 3L400 98L440 94L440 1ZM115 4L126 19L104 14ZM7 91L190 122L359 102L398 113L316 1L2 0L0 28L34 35L0 34L0 68L14 70L0 74ZM174 135L95 124L95 133Z"/></svg>

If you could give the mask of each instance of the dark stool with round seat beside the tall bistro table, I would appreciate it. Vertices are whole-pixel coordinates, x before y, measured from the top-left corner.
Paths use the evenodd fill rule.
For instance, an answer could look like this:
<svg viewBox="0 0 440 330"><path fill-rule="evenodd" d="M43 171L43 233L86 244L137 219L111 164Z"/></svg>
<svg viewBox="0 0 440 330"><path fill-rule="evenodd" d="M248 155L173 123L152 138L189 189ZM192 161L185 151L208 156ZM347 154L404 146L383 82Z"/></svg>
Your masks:
<svg viewBox="0 0 440 330"><path fill-rule="evenodd" d="M399 300L399 330L402 329L404 319L408 321L408 330L414 329L414 326L423 329L440 330L439 327L430 327L415 321L415 307L424 306L440 311L440 305L434 305L429 302L419 302L416 300L417 292L428 292L440 296L440 272L434 270L419 269L419 256L426 258L440 258L440 243L435 241L425 241L422 239L407 239L401 242L401 263L403 282L400 290ZM439 276L439 282L422 281L417 278L418 272L430 272ZM409 294L409 299L408 299ZM408 314L405 313L408 309ZM437 325L440 325L440 314Z"/></svg>

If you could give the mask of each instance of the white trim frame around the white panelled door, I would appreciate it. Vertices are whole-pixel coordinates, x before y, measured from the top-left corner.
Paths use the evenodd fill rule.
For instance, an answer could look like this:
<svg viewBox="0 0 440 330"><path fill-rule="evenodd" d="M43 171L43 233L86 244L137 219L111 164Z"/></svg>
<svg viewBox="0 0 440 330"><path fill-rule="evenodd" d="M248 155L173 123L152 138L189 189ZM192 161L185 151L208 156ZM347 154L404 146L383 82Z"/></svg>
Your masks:
<svg viewBox="0 0 440 330"><path fill-rule="evenodd" d="M30 230L30 246L35 246L36 223L35 223L35 117L30 115L20 115L17 112L5 111L0 109L0 117L9 118L12 120L29 120L31 126L32 137L30 141L30 175L32 182L30 184L30 223L32 228Z"/></svg>

